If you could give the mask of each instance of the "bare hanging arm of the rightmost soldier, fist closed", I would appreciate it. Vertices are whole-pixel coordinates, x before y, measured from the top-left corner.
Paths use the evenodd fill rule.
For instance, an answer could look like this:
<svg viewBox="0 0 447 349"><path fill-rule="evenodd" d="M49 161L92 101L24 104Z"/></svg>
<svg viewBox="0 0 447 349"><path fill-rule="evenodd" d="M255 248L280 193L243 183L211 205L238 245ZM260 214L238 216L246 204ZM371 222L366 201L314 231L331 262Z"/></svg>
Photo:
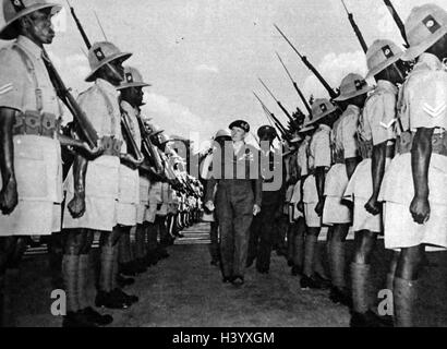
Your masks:
<svg viewBox="0 0 447 349"><path fill-rule="evenodd" d="M434 129L418 129L411 149L411 170L413 174L414 197L410 213L415 222L423 225L430 219L428 167L432 158L432 136Z"/></svg>

